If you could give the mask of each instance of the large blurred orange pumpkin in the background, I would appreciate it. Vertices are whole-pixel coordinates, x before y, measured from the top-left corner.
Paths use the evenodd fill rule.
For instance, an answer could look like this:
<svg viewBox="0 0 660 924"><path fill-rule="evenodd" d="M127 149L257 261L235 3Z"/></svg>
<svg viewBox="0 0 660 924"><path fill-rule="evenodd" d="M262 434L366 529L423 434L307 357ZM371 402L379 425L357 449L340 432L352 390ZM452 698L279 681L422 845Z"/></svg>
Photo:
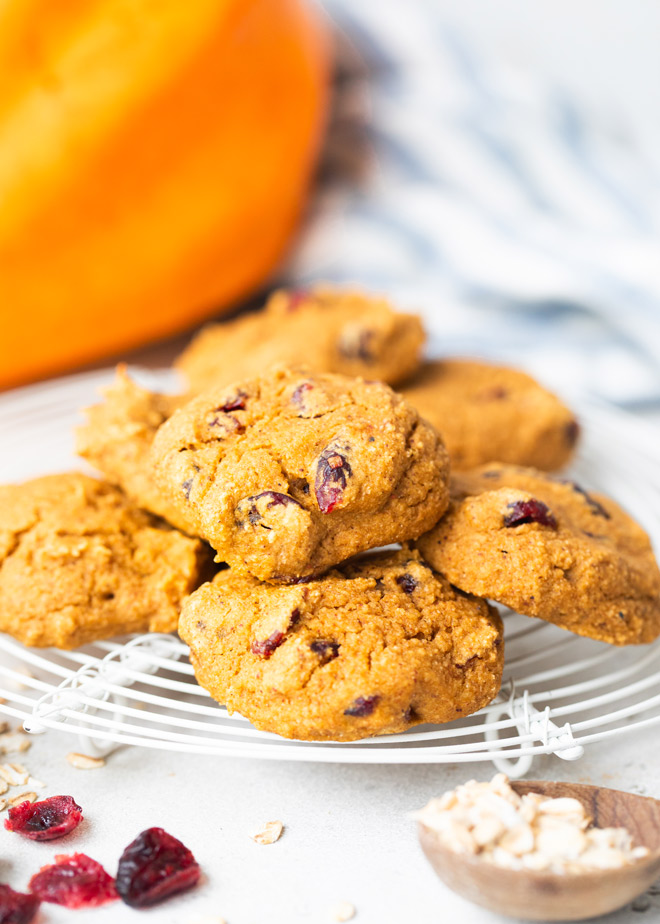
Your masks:
<svg viewBox="0 0 660 924"><path fill-rule="evenodd" d="M0 386L263 282L318 151L327 39L304 0L0 5Z"/></svg>

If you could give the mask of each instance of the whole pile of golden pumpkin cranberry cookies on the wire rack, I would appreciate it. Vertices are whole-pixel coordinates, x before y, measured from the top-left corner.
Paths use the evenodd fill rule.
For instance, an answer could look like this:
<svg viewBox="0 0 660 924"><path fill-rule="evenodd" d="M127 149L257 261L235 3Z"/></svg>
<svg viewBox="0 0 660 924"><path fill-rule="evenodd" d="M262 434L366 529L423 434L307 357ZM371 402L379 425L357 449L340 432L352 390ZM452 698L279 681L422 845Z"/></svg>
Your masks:
<svg viewBox="0 0 660 924"><path fill-rule="evenodd" d="M230 711L330 741L489 703L488 600L612 644L657 637L643 530L547 474L571 412L516 370L422 363L423 343L383 300L279 292L193 341L185 396L120 370L78 434L107 481L2 489L0 628L73 647L178 622Z"/></svg>

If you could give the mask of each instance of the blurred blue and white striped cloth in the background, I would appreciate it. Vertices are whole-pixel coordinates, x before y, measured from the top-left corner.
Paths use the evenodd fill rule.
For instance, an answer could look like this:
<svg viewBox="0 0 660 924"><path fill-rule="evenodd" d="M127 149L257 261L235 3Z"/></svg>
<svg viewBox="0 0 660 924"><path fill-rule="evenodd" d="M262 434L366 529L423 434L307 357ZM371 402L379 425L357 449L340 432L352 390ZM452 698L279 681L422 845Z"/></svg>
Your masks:
<svg viewBox="0 0 660 924"><path fill-rule="evenodd" d="M421 310L435 352L660 408L660 163L433 0L324 6L370 69L375 169L321 192L288 271Z"/></svg>

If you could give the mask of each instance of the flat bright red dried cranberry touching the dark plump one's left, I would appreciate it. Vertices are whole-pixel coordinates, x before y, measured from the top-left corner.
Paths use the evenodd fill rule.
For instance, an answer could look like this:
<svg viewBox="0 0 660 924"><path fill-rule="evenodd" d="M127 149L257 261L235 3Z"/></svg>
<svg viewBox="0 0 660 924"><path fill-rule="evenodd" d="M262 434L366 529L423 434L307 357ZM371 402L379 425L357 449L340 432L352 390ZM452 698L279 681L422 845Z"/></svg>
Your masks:
<svg viewBox="0 0 660 924"><path fill-rule="evenodd" d="M42 902L66 908L95 908L117 898L112 876L84 853L58 854L52 866L42 866L30 879L28 888Z"/></svg>

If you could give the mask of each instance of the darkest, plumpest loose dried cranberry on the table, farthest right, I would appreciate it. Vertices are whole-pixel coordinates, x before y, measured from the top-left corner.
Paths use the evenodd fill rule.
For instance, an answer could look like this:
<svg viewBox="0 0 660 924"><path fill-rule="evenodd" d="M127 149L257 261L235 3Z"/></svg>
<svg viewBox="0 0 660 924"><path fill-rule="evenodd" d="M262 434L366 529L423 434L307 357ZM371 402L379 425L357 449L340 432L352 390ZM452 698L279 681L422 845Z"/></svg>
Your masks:
<svg viewBox="0 0 660 924"><path fill-rule="evenodd" d="M197 885L197 860L162 828L147 828L119 858L117 891L127 905L154 905Z"/></svg>

